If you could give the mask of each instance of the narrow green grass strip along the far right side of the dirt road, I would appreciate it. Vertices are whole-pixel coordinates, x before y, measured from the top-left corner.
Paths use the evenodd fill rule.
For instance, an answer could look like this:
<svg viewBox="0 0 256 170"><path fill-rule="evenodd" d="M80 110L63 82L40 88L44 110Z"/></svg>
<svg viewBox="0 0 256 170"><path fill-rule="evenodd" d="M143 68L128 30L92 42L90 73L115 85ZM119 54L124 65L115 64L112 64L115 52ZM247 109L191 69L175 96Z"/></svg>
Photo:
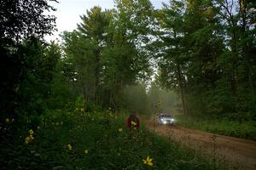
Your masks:
<svg viewBox="0 0 256 170"><path fill-rule="evenodd" d="M177 124L183 127L192 127L209 133L233 136L241 139L256 140L256 122L235 122L227 118L205 118L177 115Z"/></svg>

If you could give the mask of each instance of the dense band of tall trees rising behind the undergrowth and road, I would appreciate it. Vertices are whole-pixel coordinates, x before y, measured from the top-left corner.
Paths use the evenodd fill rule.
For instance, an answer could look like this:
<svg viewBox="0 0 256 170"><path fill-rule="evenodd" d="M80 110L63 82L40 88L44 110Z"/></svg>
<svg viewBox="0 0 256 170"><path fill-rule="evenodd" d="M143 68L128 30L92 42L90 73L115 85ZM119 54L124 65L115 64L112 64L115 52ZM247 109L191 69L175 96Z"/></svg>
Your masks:
<svg viewBox="0 0 256 170"><path fill-rule="evenodd" d="M50 43L44 35L55 30L55 16L44 11L54 8L1 3L2 117L40 115L78 98L88 109L152 113L170 89L178 99L165 97L168 105L184 114L255 119L253 1L154 9L148 0L116 0L113 9L87 10L77 29Z"/></svg>

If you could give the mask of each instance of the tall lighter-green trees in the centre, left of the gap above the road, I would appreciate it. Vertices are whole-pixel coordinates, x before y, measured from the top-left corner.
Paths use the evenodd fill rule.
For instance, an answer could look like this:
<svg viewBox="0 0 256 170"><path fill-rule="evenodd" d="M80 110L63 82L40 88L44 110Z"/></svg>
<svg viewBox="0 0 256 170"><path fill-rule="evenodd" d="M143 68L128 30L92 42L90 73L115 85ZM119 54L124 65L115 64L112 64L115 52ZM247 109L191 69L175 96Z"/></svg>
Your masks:
<svg viewBox="0 0 256 170"><path fill-rule="evenodd" d="M124 106L125 86L149 79L149 58L141 44L147 42L153 8L148 0L115 3L116 10L87 10L78 29L62 38L64 72L85 103L117 111Z"/></svg>

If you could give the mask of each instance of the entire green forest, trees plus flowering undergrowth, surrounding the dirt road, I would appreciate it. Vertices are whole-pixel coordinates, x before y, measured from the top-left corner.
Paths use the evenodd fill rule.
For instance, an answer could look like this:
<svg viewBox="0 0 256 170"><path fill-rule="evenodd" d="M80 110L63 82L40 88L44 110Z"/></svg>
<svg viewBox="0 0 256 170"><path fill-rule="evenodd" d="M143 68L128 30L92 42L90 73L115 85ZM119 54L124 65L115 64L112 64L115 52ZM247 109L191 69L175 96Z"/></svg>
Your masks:
<svg viewBox="0 0 256 170"><path fill-rule="evenodd" d="M145 169L142 159L163 169L163 154L176 162L170 168L216 169L215 158L212 167L147 131L126 132L131 112L250 122L224 134L256 139L255 1L170 0L154 8L149 0L114 0L47 42L56 30L49 2L58 3L0 0L3 169Z"/></svg>

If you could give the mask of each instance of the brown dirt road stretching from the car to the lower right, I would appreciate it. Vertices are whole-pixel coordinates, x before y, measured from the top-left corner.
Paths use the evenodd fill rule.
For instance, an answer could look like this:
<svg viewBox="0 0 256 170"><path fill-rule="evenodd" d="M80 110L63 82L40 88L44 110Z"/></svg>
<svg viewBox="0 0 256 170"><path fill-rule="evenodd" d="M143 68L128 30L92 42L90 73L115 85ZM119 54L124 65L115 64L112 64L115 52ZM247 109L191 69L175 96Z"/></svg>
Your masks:
<svg viewBox="0 0 256 170"><path fill-rule="evenodd" d="M230 162L230 169L256 170L256 142L237 139L213 133L205 133L180 126L158 126L150 120L146 126L158 133L171 138L189 148L203 151L208 155L216 154L219 159Z"/></svg>

